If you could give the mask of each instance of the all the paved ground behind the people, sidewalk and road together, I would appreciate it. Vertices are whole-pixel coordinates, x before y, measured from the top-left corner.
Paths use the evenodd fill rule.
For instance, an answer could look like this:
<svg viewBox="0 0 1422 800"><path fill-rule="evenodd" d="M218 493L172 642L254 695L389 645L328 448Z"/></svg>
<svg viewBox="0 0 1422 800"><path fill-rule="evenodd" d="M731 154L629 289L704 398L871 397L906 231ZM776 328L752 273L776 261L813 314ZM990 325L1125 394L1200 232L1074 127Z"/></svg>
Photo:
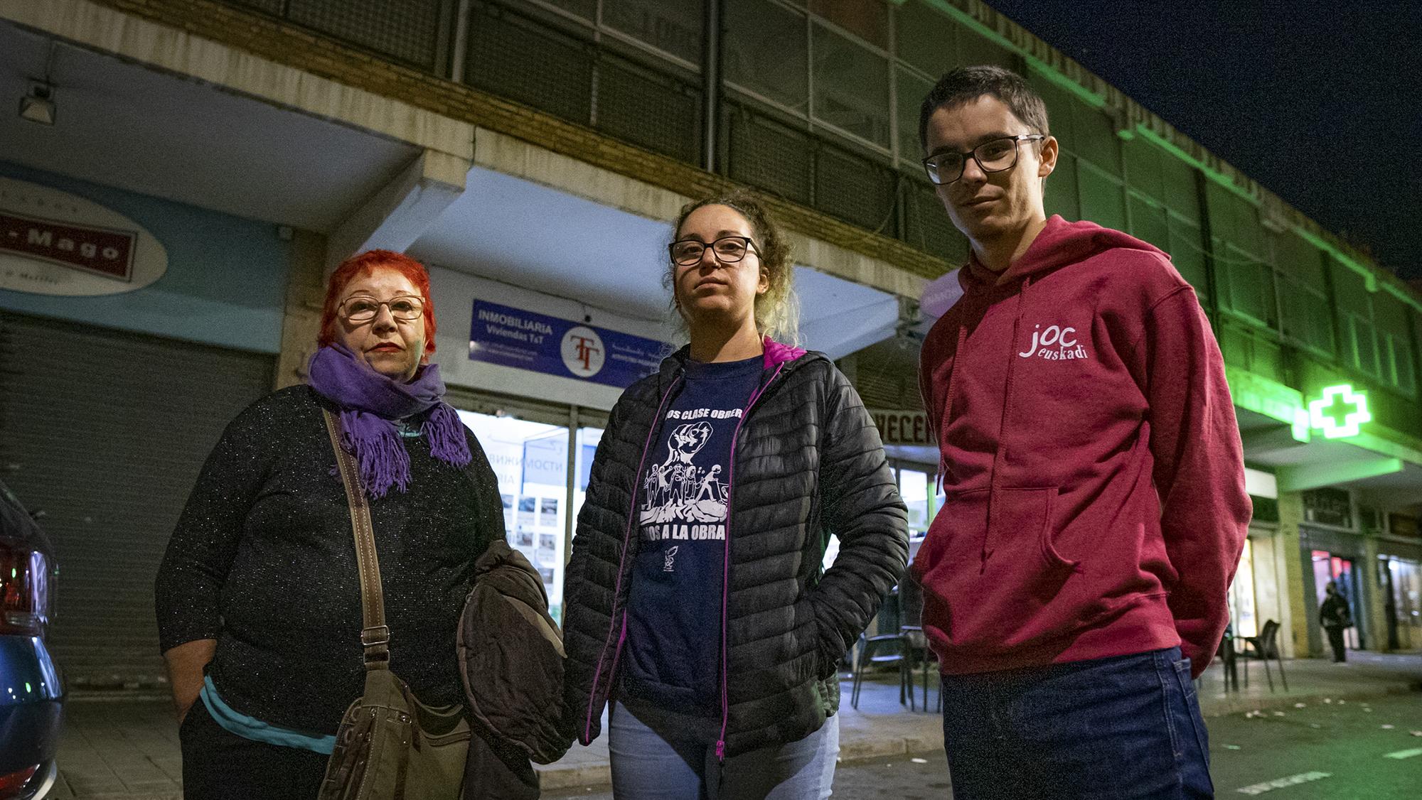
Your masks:
<svg viewBox="0 0 1422 800"><path fill-rule="evenodd" d="M1411 735L1422 730L1422 692L1416 691L1422 686L1422 655L1357 652L1345 666L1321 659L1285 666L1287 692L1277 669L1276 691L1270 691L1261 664L1250 665L1251 681L1243 692L1226 693L1217 666L1200 682L1220 796L1285 779L1315 779L1270 786L1268 794L1415 800L1415 787L1422 786L1422 753L1384 756L1422 749L1422 736ZM900 706L892 674L866 681L857 709L848 702L849 682L842 686L845 764L835 796L950 797L939 715L926 713L921 703L919 710ZM923 699L921 685L916 696ZM929 699L937 699L936 689ZM539 770L546 797L610 797L606 736L589 747L574 746ZM65 708L55 800L181 800L179 773L176 726L166 698L81 696Z"/></svg>

